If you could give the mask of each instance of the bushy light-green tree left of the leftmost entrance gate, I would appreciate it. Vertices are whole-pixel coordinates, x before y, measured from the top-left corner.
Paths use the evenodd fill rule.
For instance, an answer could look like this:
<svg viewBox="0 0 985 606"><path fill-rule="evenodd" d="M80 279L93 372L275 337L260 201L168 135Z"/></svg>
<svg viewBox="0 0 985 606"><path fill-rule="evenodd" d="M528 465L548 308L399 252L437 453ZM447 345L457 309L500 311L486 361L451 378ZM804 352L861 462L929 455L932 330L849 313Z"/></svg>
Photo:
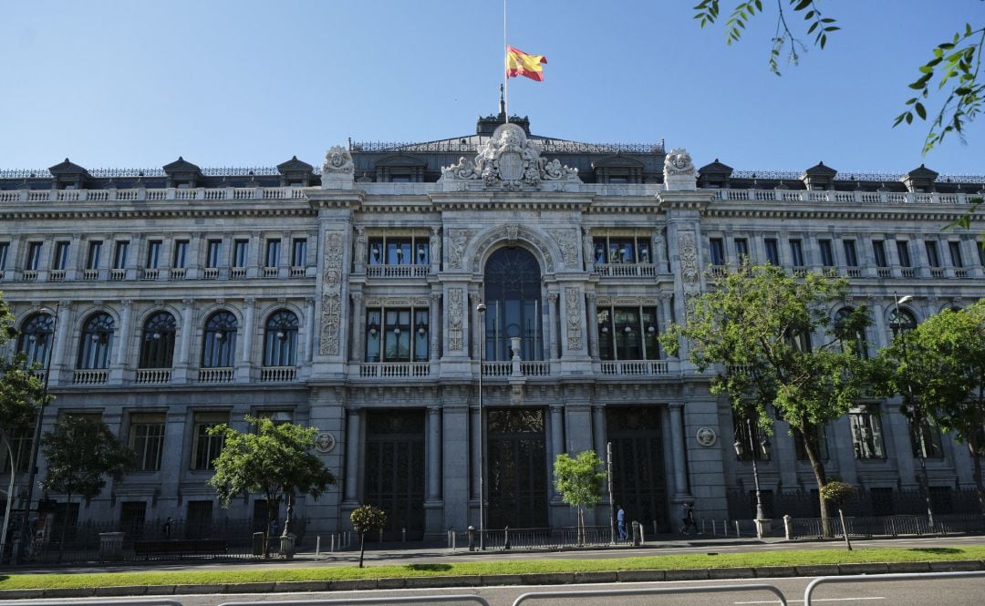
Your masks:
<svg viewBox="0 0 985 606"><path fill-rule="evenodd" d="M261 493L267 500L265 541L281 501L287 501L288 516L283 535L291 531L298 493L317 500L335 476L321 457L311 453L318 430L293 423L275 423L269 418L245 417L253 431L240 432L225 423L209 429L211 435L224 438L223 451L213 461L216 473L208 484L216 489L224 508L237 495ZM270 555L268 549L264 554Z"/></svg>

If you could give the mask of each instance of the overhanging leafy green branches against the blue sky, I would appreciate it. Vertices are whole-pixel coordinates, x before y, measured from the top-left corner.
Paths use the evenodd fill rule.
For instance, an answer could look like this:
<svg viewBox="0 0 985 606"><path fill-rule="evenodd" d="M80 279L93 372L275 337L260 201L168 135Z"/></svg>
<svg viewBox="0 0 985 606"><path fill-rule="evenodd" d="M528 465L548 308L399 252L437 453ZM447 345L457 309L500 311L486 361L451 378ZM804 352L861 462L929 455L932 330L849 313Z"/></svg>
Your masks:
<svg viewBox="0 0 985 606"><path fill-rule="evenodd" d="M719 23L721 4L720 0L701 0L694 7L694 19L702 28ZM802 35L813 37L814 45L823 49L828 34L840 29L833 18L821 13L820 4L820 0L776 1L776 33L771 38L768 62L770 71L777 76L783 55L794 65L800 61L801 54L807 49ZM791 27L787 10L801 17L803 33L799 32L796 22ZM725 21L726 43L738 42L749 21L763 12L762 0L735 2ZM963 140L964 125L981 111L985 95L985 81L980 80L983 49L985 27L973 28L971 24L964 24L951 38L932 49L932 56L925 64L918 66L919 76L909 85L916 91L916 96L907 99L903 112L896 116L892 125L911 124L914 116L926 121L927 99L934 93L943 95L939 109L932 114L934 117L924 140L924 154L943 143L949 133Z"/></svg>

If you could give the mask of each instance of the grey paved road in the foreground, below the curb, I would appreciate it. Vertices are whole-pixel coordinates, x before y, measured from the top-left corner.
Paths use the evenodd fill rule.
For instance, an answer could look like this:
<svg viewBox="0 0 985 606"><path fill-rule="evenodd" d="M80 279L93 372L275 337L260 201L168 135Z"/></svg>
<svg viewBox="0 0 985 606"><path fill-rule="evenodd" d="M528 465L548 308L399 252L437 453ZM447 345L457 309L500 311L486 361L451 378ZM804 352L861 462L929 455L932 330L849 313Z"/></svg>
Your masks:
<svg viewBox="0 0 985 606"><path fill-rule="evenodd" d="M331 593L293 593L293 594L230 594L230 595L182 595L173 596L183 606L218 606L229 602L287 602L297 600L353 600L365 597L399 596L425 597L428 595L472 594L484 597L492 606L510 606L519 595L528 592L578 591L578 590L620 590L627 588L707 586L710 584L772 584L783 591L789 604L802 604L804 588L812 579L766 578L735 581L688 581L660 583L616 583L594 585L563 586L508 586L508 587L462 587L448 589L401 589L399 591L336 591ZM816 590L815 603L823 606L966 606L985 602L985 578L974 579L921 579L916 581L859 582L838 585L825 585ZM21 606L30 606L33 600L21 600ZM81 604L84 600L61 600L66 605ZM427 603L427 602L423 602ZM468 604L469 602L455 602ZM474 604L474 602L472 602ZM650 597L584 597L569 596L561 599L537 599L525 602L527 606L594 606L596 604L618 604L619 606L642 606L643 604L680 606L754 606L779 604L776 597L765 591L731 592L724 594L697 594Z"/></svg>

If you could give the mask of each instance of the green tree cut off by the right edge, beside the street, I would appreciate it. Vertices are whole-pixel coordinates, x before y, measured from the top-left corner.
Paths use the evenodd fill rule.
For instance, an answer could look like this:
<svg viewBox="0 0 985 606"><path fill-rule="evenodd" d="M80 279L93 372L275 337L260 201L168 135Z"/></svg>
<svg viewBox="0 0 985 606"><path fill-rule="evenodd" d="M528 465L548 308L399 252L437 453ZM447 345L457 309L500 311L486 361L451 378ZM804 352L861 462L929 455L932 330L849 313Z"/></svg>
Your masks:
<svg viewBox="0 0 985 606"><path fill-rule="evenodd" d="M981 456L985 449L985 299L945 310L897 333L880 352L887 392L903 394L911 423L932 418L968 447L985 515Z"/></svg>

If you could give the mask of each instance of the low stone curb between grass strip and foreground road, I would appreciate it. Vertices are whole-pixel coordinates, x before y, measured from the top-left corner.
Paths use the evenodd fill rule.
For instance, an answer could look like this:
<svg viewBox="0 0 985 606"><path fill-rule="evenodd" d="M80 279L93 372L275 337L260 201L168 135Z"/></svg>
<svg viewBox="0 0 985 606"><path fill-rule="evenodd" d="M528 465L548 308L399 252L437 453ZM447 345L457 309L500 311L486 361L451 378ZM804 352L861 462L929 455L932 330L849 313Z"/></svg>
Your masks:
<svg viewBox="0 0 985 606"><path fill-rule="evenodd" d="M985 570L985 561L896 562L827 564L818 566L763 566L757 568L712 568L610 571L598 573L531 573L483 576L390 576L349 580L283 580L228 584L113 585L57 589L2 589L0 600L59 599L79 597L124 597L189 595L197 593L291 593L322 591L366 591L374 589L425 589L490 585L550 585L607 582L653 582L682 580L725 580L776 576L851 576L886 573L945 573Z"/></svg>

